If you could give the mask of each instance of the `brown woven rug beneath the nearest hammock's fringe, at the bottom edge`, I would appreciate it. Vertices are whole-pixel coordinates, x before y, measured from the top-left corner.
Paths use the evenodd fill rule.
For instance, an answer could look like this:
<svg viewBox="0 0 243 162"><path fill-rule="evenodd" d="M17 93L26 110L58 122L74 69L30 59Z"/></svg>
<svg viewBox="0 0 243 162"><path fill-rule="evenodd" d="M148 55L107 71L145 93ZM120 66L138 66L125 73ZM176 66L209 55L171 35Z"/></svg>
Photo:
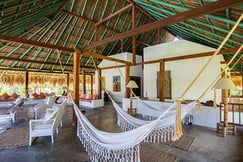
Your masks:
<svg viewBox="0 0 243 162"><path fill-rule="evenodd" d="M140 159L142 162L177 162L177 156L156 150L154 148L140 145Z"/></svg>

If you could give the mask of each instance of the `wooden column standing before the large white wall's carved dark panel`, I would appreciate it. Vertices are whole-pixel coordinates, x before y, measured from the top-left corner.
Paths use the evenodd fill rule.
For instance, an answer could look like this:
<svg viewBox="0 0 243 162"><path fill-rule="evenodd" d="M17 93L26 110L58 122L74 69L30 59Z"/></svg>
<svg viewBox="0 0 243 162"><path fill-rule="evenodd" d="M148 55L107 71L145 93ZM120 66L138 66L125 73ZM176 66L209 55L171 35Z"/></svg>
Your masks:
<svg viewBox="0 0 243 162"><path fill-rule="evenodd" d="M159 100L165 100L165 60L160 60L160 70L159 70Z"/></svg>

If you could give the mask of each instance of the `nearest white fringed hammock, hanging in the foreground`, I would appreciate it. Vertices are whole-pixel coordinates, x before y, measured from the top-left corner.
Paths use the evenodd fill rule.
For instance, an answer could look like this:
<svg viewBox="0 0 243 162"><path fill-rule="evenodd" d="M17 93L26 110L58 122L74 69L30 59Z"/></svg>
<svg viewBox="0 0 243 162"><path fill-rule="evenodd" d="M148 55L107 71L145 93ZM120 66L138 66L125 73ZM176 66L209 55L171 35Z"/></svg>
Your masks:
<svg viewBox="0 0 243 162"><path fill-rule="evenodd" d="M73 105L78 118L77 136L91 161L140 161L139 143L153 131L156 124L169 111L165 111L158 119L147 122L139 128L121 133L107 133L96 129L74 102Z"/></svg>

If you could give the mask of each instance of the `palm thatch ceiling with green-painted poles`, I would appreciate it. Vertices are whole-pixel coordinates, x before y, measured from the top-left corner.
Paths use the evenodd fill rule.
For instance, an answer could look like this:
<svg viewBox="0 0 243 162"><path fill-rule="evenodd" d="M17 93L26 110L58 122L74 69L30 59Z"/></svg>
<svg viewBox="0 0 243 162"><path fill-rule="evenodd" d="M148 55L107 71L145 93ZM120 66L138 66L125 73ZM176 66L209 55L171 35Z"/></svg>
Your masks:
<svg viewBox="0 0 243 162"><path fill-rule="evenodd" d="M132 7L128 7L131 3L136 6L135 26L139 27L215 1L2 0L0 34L63 47L82 48L95 42L96 23L124 7L127 7L125 11L98 27L97 40L131 30ZM239 6L166 26L160 29L160 42L179 37L217 48L242 13L243 2ZM223 48L239 48L243 40L242 33L241 22ZM136 53L142 55L144 47L157 44L157 35L157 30L136 35ZM132 52L132 38L122 41L124 51ZM90 51L94 52L94 49ZM97 48L97 53L106 56L119 52L121 40ZM60 72L59 56L64 71L71 72L73 54L70 52L0 41L0 68ZM229 60L232 55L224 57ZM83 67L93 66L92 59L85 56L81 56L80 64ZM242 63L238 63L235 69L242 70L242 67Z"/></svg>

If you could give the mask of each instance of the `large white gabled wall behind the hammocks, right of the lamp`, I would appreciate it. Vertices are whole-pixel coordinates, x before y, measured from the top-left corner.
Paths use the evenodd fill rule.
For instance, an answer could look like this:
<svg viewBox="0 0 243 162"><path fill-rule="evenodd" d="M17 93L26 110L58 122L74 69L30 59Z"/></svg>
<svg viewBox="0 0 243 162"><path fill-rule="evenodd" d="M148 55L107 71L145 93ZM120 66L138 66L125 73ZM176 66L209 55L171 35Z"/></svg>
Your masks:
<svg viewBox="0 0 243 162"><path fill-rule="evenodd" d="M180 40L145 48L144 61L209 52L214 50L215 49L211 47L186 40ZM184 90L196 77L208 59L209 57L200 57L165 63L165 70L171 71L172 99L176 99L182 95ZM221 57L217 56L216 59L213 60L200 79L187 93L185 99L197 99L203 93L214 78L220 73L220 59ZM157 98L157 71L159 71L159 63L144 65L144 96L147 96L150 99ZM217 94L219 96L220 91L217 91ZM202 101L212 99L213 92L210 92L203 98ZM220 101L220 97L218 97L218 101Z"/></svg>

